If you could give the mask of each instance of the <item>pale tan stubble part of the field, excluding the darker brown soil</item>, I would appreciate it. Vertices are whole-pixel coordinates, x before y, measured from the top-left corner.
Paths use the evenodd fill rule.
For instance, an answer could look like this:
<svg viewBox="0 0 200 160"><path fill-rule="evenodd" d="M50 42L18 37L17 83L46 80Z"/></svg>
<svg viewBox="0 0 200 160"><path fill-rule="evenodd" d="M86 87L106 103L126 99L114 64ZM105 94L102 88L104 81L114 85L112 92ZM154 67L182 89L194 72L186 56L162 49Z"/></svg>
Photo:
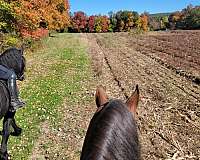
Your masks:
<svg viewBox="0 0 200 160"><path fill-rule="evenodd" d="M123 99L139 84L143 159L199 159L200 86L136 51L127 36L82 35L97 83L105 85L109 95Z"/></svg>

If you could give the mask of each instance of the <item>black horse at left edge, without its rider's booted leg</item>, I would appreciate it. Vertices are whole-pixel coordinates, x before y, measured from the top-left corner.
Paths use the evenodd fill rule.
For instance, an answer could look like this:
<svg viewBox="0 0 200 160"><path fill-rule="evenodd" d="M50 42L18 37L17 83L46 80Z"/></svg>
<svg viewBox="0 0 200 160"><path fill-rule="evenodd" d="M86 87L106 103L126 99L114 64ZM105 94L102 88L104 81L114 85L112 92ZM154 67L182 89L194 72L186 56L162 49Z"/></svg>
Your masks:
<svg viewBox="0 0 200 160"><path fill-rule="evenodd" d="M23 56L23 49L9 48L0 55L0 65L12 69L15 71L19 80L24 79L25 72L25 58ZM9 155L7 152L7 142L10 135L19 136L22 129L17 126L15 121L15 113L11 112L10 109L10 93L5 80L0 80L0 119L3 119L3 130L1 148L0 148L0 159L7 160ZM14 132L11 132L13 127Z"/></svg>

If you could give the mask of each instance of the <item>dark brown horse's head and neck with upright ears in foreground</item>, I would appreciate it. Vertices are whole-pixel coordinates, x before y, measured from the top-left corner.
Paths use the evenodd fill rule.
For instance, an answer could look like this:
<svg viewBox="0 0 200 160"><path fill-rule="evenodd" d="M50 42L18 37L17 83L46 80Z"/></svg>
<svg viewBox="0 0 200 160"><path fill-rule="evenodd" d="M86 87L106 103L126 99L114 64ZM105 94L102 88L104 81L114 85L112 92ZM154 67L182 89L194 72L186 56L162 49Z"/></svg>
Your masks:
<svg viewBox="0 0 200 160"><path fill-rule="evenodd" d="M139 101L136 89L126 103L109 100L105 89L97 87L97 110L82 147L80 160L140 160L140 143L135 121Z"/></svg>

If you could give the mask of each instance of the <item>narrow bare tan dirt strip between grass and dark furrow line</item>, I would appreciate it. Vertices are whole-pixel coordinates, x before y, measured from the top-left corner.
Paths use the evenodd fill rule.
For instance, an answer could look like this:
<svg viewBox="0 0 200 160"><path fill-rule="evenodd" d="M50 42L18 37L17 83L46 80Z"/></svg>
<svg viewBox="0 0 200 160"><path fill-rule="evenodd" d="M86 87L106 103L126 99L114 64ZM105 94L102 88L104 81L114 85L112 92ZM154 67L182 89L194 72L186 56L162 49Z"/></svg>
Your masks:
<svg viewBox="0 0 200 160"><path fill-rule="evenodd" d="M120 88L118 81L115 79L114 72L105 58L105 51L102 51L101 46L97 44L95 36L90 36L90 34L82 34L81 36L88 45L96 86L103 85L109 96L124 99L123 89Z"/></svg>

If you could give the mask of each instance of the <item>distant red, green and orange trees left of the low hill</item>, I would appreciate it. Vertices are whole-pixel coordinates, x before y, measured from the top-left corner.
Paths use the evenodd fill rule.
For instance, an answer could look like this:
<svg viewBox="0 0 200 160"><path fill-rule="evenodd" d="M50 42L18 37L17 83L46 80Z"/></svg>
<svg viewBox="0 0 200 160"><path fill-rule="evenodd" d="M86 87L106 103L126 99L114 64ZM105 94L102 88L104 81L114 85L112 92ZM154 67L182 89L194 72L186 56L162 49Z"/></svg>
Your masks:
<svg viewBox="0 0 200 160"><path fill-rule="evenodd" d="M71 15L70 32L122 32L137 28L147 31L147 16L135 11L109 12L106 15L87 16L83 11Z"/></svg>

